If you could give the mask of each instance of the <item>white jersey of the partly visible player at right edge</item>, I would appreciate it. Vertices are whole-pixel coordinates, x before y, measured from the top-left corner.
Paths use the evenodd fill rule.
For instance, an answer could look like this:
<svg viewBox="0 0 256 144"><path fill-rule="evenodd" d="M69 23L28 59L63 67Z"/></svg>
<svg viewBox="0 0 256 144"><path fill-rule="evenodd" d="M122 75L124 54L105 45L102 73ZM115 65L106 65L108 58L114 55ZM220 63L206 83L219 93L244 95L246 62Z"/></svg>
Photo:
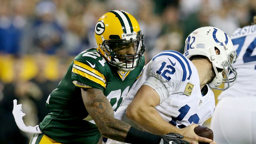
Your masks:
<svg viewBox="0 0 256 144"><path fill-rule="evenodd" d="M233 64L238 77L235 84L223 91L218 99L256 96L256 25L238 28L231 36L231 40L238 55Z"/></svg>

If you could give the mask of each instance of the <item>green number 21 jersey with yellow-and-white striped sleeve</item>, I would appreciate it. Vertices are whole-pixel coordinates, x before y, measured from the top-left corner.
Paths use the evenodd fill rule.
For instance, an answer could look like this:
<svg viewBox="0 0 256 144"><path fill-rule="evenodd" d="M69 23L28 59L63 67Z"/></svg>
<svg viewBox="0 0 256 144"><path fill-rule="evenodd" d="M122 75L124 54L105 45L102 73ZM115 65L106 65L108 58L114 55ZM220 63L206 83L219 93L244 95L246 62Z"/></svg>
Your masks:
<svg viewBox="0 0 256 144"><path fill-rule="evenodd" d="M77 55L46 101L50 113L40 123L41 131L60 143L96 144L101 134L84 106L81 88L101 89L116 110L140 76L144 61L143 56L134 70L121 72L95 48Z"/></svg>

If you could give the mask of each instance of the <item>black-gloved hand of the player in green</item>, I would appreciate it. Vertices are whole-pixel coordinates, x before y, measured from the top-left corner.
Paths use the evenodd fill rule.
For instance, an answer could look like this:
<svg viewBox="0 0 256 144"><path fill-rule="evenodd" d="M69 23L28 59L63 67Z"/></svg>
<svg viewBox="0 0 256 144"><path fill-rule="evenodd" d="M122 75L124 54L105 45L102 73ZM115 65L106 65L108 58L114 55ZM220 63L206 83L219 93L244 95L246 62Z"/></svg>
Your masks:
<svg viewBox="0 0 256 144"><path fill-rule="evenodd" d="M160 144L189 144L189 142L182 140L183 136L177 133L168 133L161 136Z"/></svg>

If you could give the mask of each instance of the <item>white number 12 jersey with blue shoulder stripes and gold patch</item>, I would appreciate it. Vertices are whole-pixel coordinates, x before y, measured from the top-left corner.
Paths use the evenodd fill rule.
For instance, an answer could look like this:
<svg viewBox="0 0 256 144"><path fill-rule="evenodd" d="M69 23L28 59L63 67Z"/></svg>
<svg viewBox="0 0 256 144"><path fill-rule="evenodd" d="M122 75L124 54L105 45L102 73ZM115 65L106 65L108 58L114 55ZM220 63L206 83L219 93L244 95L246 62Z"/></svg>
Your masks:
<svg viewBox="0 0 256 144"><path fill-rule="evenodd" d="M156 110L165 121L176 127L183 128L192 123L201 125L213 114L213 91L206 85L208 92L202 95L196 67L179 52L163 51L145 66L142 76L115 112L117 119L131 124L125 116L126 108L142 85L156 90L160 96Z"/></svg>

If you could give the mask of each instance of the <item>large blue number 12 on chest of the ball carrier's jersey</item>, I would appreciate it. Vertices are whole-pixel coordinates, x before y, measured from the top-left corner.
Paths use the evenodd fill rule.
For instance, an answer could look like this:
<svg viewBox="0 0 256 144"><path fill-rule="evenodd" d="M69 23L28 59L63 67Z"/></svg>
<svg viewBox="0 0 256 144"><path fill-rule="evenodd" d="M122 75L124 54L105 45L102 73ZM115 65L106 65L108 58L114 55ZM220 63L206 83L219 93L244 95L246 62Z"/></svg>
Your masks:
<svg viewBox="0 0 256 144"><path fill-rule="evenodd" d="M169 121L169 123L176 126L177 125L176 121L182 121L183 118L187 115L189 109L190 109L190 107L188 105L185 105L185 106L181 107L179 109L180 114L177 117L172 117L172 120ZM197 114L194 114L194 115L190 116L189 119L188 119L188 121L190 123L193 122L193 123L196 123L196 124L199 123L199 120L200 119L199 119ZM184 126L182 126L182 125L180 126L180 128L183 128L183 127Z"/></svg>

